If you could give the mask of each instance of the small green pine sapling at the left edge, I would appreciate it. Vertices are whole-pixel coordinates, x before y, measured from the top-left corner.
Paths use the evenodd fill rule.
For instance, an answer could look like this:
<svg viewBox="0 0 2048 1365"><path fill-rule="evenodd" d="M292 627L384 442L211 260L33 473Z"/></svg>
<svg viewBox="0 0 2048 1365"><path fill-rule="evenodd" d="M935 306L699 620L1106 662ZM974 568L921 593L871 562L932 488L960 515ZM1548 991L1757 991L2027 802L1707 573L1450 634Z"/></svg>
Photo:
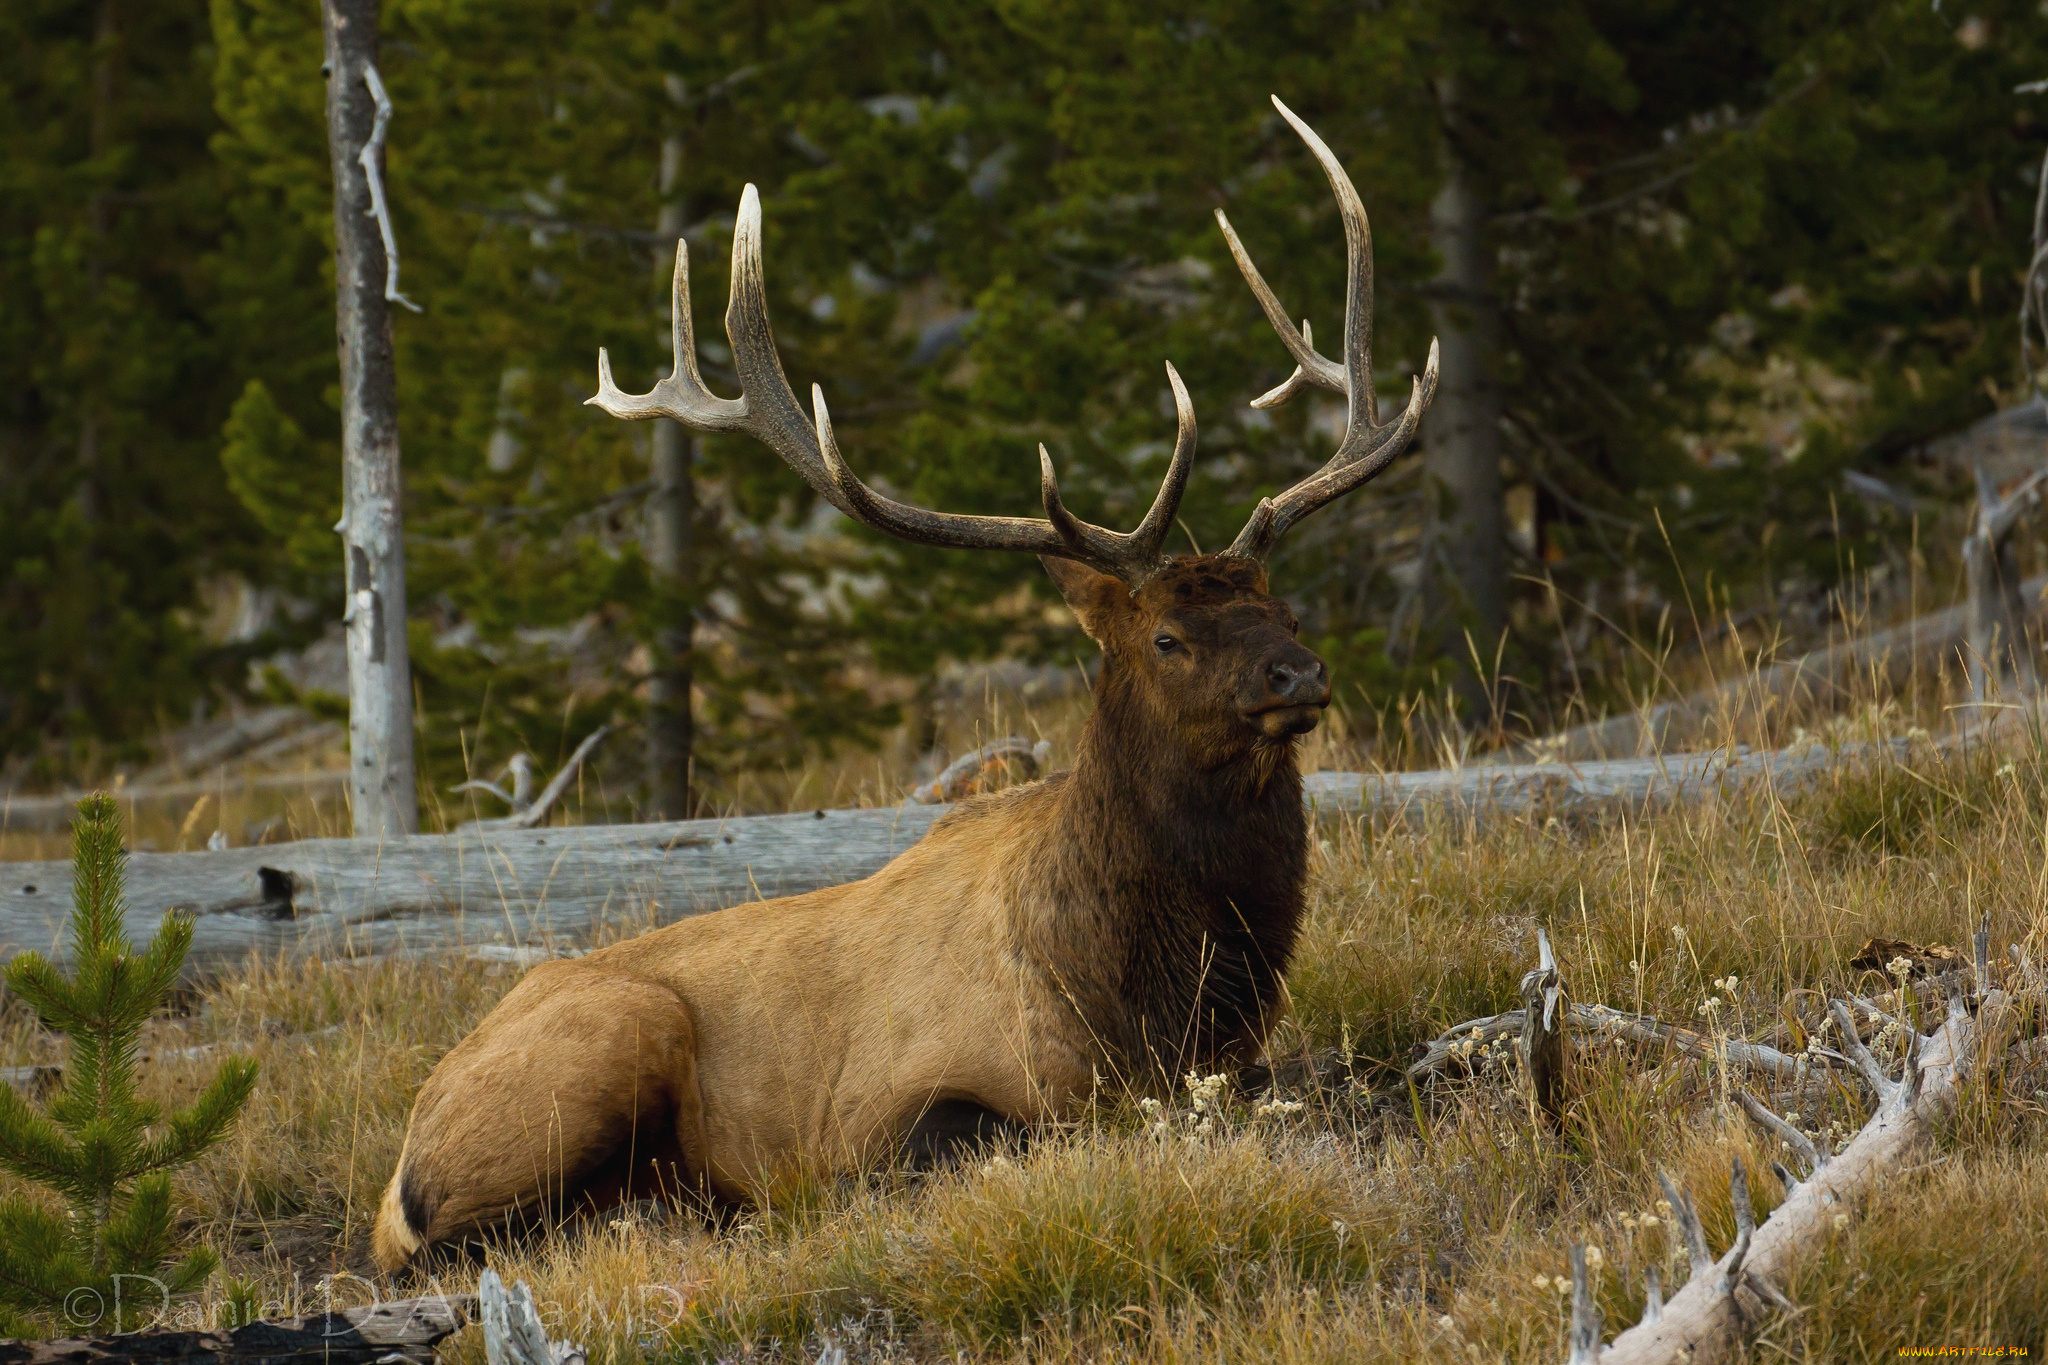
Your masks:
<svg viewBox="0 0 2048 1365"><path fill-rule="evenodd" d="M66 1205L0 1199L0 1334L25 1328L20 1314L129 1330L215 1267L205 1246L178 1254L170 1173L221 1140L256 1087L256 1062L221 1062L205 1093L172 1113L135 1093L137 1042L178 982L193 921L166 915L137 952L125 860L113 798L88 796L72 825L72 976L33 952L6 968L8 990L72 1046L47 1111L0 1085L0 1169Z"/></svg>

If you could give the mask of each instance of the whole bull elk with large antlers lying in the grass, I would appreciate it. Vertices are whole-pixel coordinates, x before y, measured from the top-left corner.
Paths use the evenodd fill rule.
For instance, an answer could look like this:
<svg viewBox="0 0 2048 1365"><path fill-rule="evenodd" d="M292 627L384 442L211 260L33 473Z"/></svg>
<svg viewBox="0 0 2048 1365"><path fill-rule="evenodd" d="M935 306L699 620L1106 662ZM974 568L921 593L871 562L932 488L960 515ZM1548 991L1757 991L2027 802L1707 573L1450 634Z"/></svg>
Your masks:
<svg viewBox="0 0 2048 1365"><path fill-rule="evenodd" d="M1116 534L1061 503L1038 448L1044 518L950 516L862 483L782 375L762 291L760 196L733 235L725 329L741 397L696 368L690 256L676 246L674 375L594 405L748 432L846 516L920 544L1038 555L1102 647L1094 712L1069 772L965 802L893 864L848 886L684 919L580 960L547 962L422 1087L377 1216L377 1257L565 1201L688 1191L743 1201L780 1173L936 1160L963 1142L1069 1115L1106 1076L1157 1085L1253 1060L1284 1009L1303 913L1309 817L1296 741L1329 671L1270 596L1280 536L1407 446L1436 389L1436 344L1407 409L1372 391L1372 229L1350 176L1280 100L1321 162L1348 244L1343 352L1315 350L1219 211L1231 254L1292 377L1348 426L1313 475L1260 501L1231 548L1171 557L1194 460L1194 411L1167 366L1180 436L1159 495Z"/></svg>

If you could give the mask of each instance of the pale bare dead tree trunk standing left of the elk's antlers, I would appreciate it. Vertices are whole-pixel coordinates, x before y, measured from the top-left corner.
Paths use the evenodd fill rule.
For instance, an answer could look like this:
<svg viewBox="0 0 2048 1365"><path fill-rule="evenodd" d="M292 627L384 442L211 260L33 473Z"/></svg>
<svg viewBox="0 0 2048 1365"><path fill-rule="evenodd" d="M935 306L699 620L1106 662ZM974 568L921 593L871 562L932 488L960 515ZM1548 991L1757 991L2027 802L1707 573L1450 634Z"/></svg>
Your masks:
<svg viewBox="0 0 2048 1365"><path fill-rule="evenodd" d="M385 248L358 162L371 141L379 0L324 0L334 164L334 319L342 354L342 532L348 575L348 767L356 837L420 827L399 520L397 370ZM377 174L383 174L379 164Z"/></svg>

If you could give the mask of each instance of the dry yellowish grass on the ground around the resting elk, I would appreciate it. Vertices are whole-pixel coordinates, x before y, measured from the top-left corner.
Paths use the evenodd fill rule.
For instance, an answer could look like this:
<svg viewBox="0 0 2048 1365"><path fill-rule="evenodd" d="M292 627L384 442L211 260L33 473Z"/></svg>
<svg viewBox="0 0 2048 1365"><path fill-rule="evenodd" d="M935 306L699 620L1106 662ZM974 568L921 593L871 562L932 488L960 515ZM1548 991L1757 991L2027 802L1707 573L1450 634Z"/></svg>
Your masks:
<svg viewBox="0 0 2048 1365"><path fill-rule="evenodd" d="M1333 823L1280 1046L1348 1048L1362 1087L1300 1095L1300 1113L1237 1101L1208 1132L1182 1111L1159 1134L1104 1099L1030 1150L926 1181L795 1181L723 1230L637 1209L492 1261L606 1363L815 1359L827 1336L854 1359L1554 1361L1569 1240L1604 1248L1602 1306L1632 1318L1642 1267L1675 1265L1663 1228L1638 1222L1657 1169L1696 1191L1720 1246L1729 1156L1763 1171L1774 1152L1729 1117L1718 1076L1632 1048L1577 1056L1556 1140L1491 1074L1413 1103L1366 1089L1415 1042L1511 1005L1536 925L1579 999L1708 1027L1698 1009L1720 997L1722 1027L1796 1048L1815 993L1880 988L1847 968L1866 937L1960 945L1985 913L2001 948L2048 958L2034 747L1923 749L1794 796L1599 827ZM252 966L164 1019L158 1048L262 1060L248 1117L184 1179L193 1232L281 1308L317 1306L322 1275L367 1273L412 1093L514 972ZM1733 990L1714 986L1731 974ZM1972 1087L1939 1148L1800 1271L1788 1291L1808 1310L1772 1324L1755 1359L2048 1349L2048 1070L2032 1056ZM51 1042L0 1015L0 1062L31 1060L55 1060ZM203 1072L156 1062L147 1083L172 1095ZM1843 1091L1804 1121L1862 1113ZM1753 1197L1767 1207L1776 1191L1757 1181ZM453 1351L481 1365L473 1332Z"/></svg>

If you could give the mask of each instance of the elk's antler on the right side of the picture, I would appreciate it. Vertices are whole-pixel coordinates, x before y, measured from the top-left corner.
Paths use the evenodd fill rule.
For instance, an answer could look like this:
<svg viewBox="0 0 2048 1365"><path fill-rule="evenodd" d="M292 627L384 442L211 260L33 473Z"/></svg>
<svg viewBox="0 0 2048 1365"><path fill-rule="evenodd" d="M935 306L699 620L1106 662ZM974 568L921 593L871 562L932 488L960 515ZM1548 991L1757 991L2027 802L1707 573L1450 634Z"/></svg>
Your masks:
<svg viewBox="0 0 2048 1365"><path fill-rule="evenodd" d="M1251 264L1245 244L1231 229L1231 219L1223 215L1223 209L1217 209L1217 225L1223 227L1223 239L1231 244L1231 256L1237 258L1239 272L1251 284L1266 321L1280 334L1280 344L1294 356L1294 372L1288 375L1286 383L1262 393L1251 405L1278 407L1305 387L1315 385L1341 393L1350 409L1346 413L1343 440L1337 442L1337 452L1323 463L1323 469L1278 497L1260 499L1257 512L1237 532L1237 540L1229 553L1251 559L1266 559L1294 522L1343 497L1393 465L1395 456L1415 436L1415 424L1421 422L1423 409L1430 407L1430 399L1436 395L1436 338L1432 338L1430 362L1409 391L1407 409L1397 420L1380 426L1380 405L1372 393L1372 223L1366 221L1366 205L1358 199L1352 178L1343 174L1343 166L1337 164L1329 145L1315 135L1315 129L1296 119L1294 111L1282 104L1278 94L1272 100L1280 117L1300 133L1300 139L1309 143L1309 151L1323 164L1329 188L1337 194L1337 213L1343 217L1343 364L1315 350L1307 319L1303 319L1298 332L1294 329L1286 309L1280 307L1280 299L1266 284L1266 276Z"/></svg>

